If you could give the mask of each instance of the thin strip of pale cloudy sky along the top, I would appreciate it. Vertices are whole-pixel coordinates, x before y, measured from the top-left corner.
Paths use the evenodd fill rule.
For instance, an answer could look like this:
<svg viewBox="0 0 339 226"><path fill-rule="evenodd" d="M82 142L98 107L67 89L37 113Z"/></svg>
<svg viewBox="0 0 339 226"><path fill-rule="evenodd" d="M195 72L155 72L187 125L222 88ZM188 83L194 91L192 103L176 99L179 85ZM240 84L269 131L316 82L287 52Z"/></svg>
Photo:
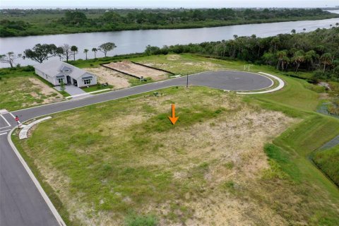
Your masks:
<svg viewBox="0 0 339 226"><path fill-rule="evenodd" d="M0 8L326 7L339 0L0 0Z"/></svg>

